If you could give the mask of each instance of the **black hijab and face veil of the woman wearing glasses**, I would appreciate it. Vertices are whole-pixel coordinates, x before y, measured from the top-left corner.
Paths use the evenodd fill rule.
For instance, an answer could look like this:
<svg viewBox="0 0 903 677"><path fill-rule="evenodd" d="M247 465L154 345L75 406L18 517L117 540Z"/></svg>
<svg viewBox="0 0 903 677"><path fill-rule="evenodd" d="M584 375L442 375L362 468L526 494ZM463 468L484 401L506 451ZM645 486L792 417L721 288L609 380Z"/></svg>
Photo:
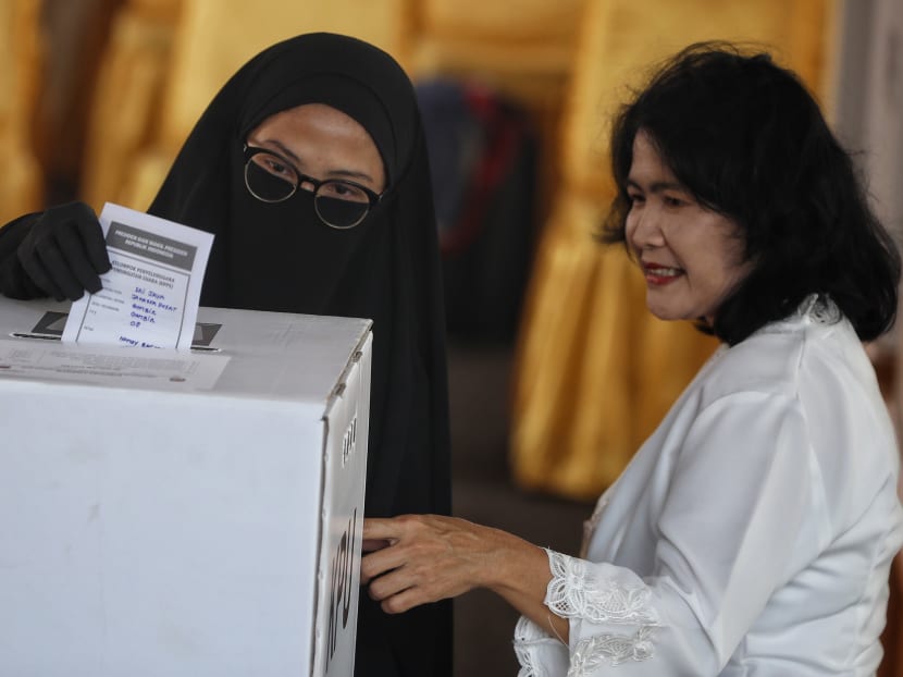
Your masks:
<svg viewBox="0 0 903 677"><path fill-rule="evenodd" d="M386 190L357 227L308 194L253 198L243 145L264 119L325 103L356 120ZM213 98L149 212L215 235L201 304L373 320L364 513L450 512L445 320L432 188L411 83L384 51L317 33L265 49ZM388 616L361 593L357 674L450 674L448 602Z"/></svg>

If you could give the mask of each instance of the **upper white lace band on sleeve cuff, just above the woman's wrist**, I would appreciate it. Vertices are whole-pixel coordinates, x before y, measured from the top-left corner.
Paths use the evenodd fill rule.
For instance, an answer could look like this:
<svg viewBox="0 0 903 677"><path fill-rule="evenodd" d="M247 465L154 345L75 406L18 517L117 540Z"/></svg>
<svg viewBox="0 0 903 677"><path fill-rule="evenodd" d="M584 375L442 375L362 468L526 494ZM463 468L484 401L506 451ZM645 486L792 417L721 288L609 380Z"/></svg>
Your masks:
<svg viewBox="0 0 903 677"><path fill-rule="evenodd" d="M599 580L586 562L546 550L552 581L545 604L561 618L586 618L593 623L657 626L658 614L650 605L652 591L644 584L620 586Z"/></svg>

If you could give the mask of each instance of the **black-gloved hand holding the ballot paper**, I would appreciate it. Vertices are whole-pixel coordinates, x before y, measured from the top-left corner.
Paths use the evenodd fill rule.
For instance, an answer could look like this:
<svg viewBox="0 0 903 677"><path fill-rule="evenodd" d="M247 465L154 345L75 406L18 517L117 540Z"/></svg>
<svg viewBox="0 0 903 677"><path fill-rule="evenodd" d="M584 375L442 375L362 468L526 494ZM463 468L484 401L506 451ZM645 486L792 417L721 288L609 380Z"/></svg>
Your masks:
<svg viewBox="0 0 903 677"><path fill-rule="evenodd" d="M14 222L10 225L17 225ZM7 226L9 227L9 226ZM5 227L3 229L5 230ZM101 290L100 275L110 270L107 244L97 214L85 202L50 207L38 214L16 248L28 280L57 300L82 298ZM13 264L0 263L10 272ZM14 271L11 276L15 276ZM0 284L5 274L0 274ZM7 296L5 288L0 287Z"/></svg>

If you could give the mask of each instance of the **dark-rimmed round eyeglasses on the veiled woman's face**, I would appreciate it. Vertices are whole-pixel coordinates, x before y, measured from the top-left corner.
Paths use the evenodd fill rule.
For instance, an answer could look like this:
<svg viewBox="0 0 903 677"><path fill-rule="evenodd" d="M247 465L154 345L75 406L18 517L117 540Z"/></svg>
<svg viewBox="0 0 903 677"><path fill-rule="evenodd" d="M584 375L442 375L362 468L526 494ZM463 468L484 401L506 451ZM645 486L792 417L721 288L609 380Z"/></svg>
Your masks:
<svg viewBox="0 0 903 677"><path fill-rule="evenodd" d="M257 199L282 202L295 195L301 184L313 186L313 209L320 221L338 230L355 227L382 197L354 181L318 181L270 150L245 146L245 185Z"/></svg>

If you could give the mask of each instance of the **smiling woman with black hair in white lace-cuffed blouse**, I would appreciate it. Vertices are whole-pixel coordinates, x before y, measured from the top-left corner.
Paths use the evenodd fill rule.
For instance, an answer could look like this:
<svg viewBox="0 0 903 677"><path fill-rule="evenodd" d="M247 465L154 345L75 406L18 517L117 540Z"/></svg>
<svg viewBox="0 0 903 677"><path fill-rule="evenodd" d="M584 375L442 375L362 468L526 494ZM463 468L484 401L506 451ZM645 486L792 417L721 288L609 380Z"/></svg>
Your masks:
<svg viewBox="0 0 903 677"><path fill-rule="evenodd" d="M522 614L524 677L874 675L903 512L862 342L894 321L900 257L850 156L793 73L705 44L621 110L611 161L602 238L626 244L654 315L721 347L579 557L449 517L370 519L370 596L401 613L497 592Z"/></svg>

